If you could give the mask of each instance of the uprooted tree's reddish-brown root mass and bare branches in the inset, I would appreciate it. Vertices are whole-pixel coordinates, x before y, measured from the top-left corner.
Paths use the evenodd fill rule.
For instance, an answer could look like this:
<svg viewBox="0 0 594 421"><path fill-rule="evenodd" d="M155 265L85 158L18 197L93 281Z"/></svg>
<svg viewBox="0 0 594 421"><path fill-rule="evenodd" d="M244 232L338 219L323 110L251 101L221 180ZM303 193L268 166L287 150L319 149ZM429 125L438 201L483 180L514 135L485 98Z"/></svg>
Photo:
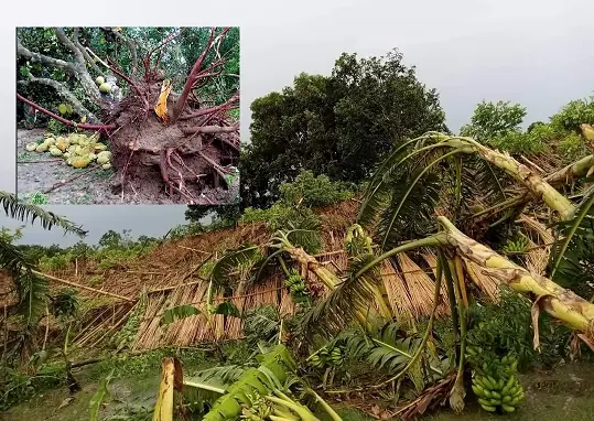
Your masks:
<svg viewBox="0 0 594 421"><path fill-rule="evenodd" d="M134 195L142 196L143 202L152 203L234 202L239 193L236 173L239 163L239 125L227 121L227 114L238 107L239 96L234 95L217 106L201 107L195 91L223 72L226 62L218 53L218 47L228 30L229 28L226 28L217 34L216 29L213 29L204 51L187 75L183 91L177 95L168 90L169 96L162 96L161 87L164 82L159 71L162 48L183 30L169 35L160 45L147 52L142 58L144 74L137 78L137 58L132 63L132 74L126 75L117 68L114 61L101 60L88 46L83 46L78 39L78 29L71 39L62 29L56 28L55 34L58 41L72 51L73 62L33 53L20 41L18 54L46 66L61 67L75 76L85 90L89 91L89 98L102 109L104 123L75 123L20 94L17 96L19 100L68 127L99 130L107 137L114 154L111 163L117 171L112 182L114 194L121 194L123 197L130 190ZM138 57L137 44L122 34L115 35L128 46L132 57ZM216 52L217 58L205 66L210 51ZM98 64L105 66L107 73L130 86L130 94L119 100L118 96L99 93L88 73L87 63L95 71L98 69ZM42 83L31 77L30 83L33 82ZM74 97L58 82L52 86L62 97ZM158 104L159 107L164 107L164 115L153 109ZM75 106L79 112L86 110L78 102L75 102ZM91 117L95 119L95 116Z"/></svg>

